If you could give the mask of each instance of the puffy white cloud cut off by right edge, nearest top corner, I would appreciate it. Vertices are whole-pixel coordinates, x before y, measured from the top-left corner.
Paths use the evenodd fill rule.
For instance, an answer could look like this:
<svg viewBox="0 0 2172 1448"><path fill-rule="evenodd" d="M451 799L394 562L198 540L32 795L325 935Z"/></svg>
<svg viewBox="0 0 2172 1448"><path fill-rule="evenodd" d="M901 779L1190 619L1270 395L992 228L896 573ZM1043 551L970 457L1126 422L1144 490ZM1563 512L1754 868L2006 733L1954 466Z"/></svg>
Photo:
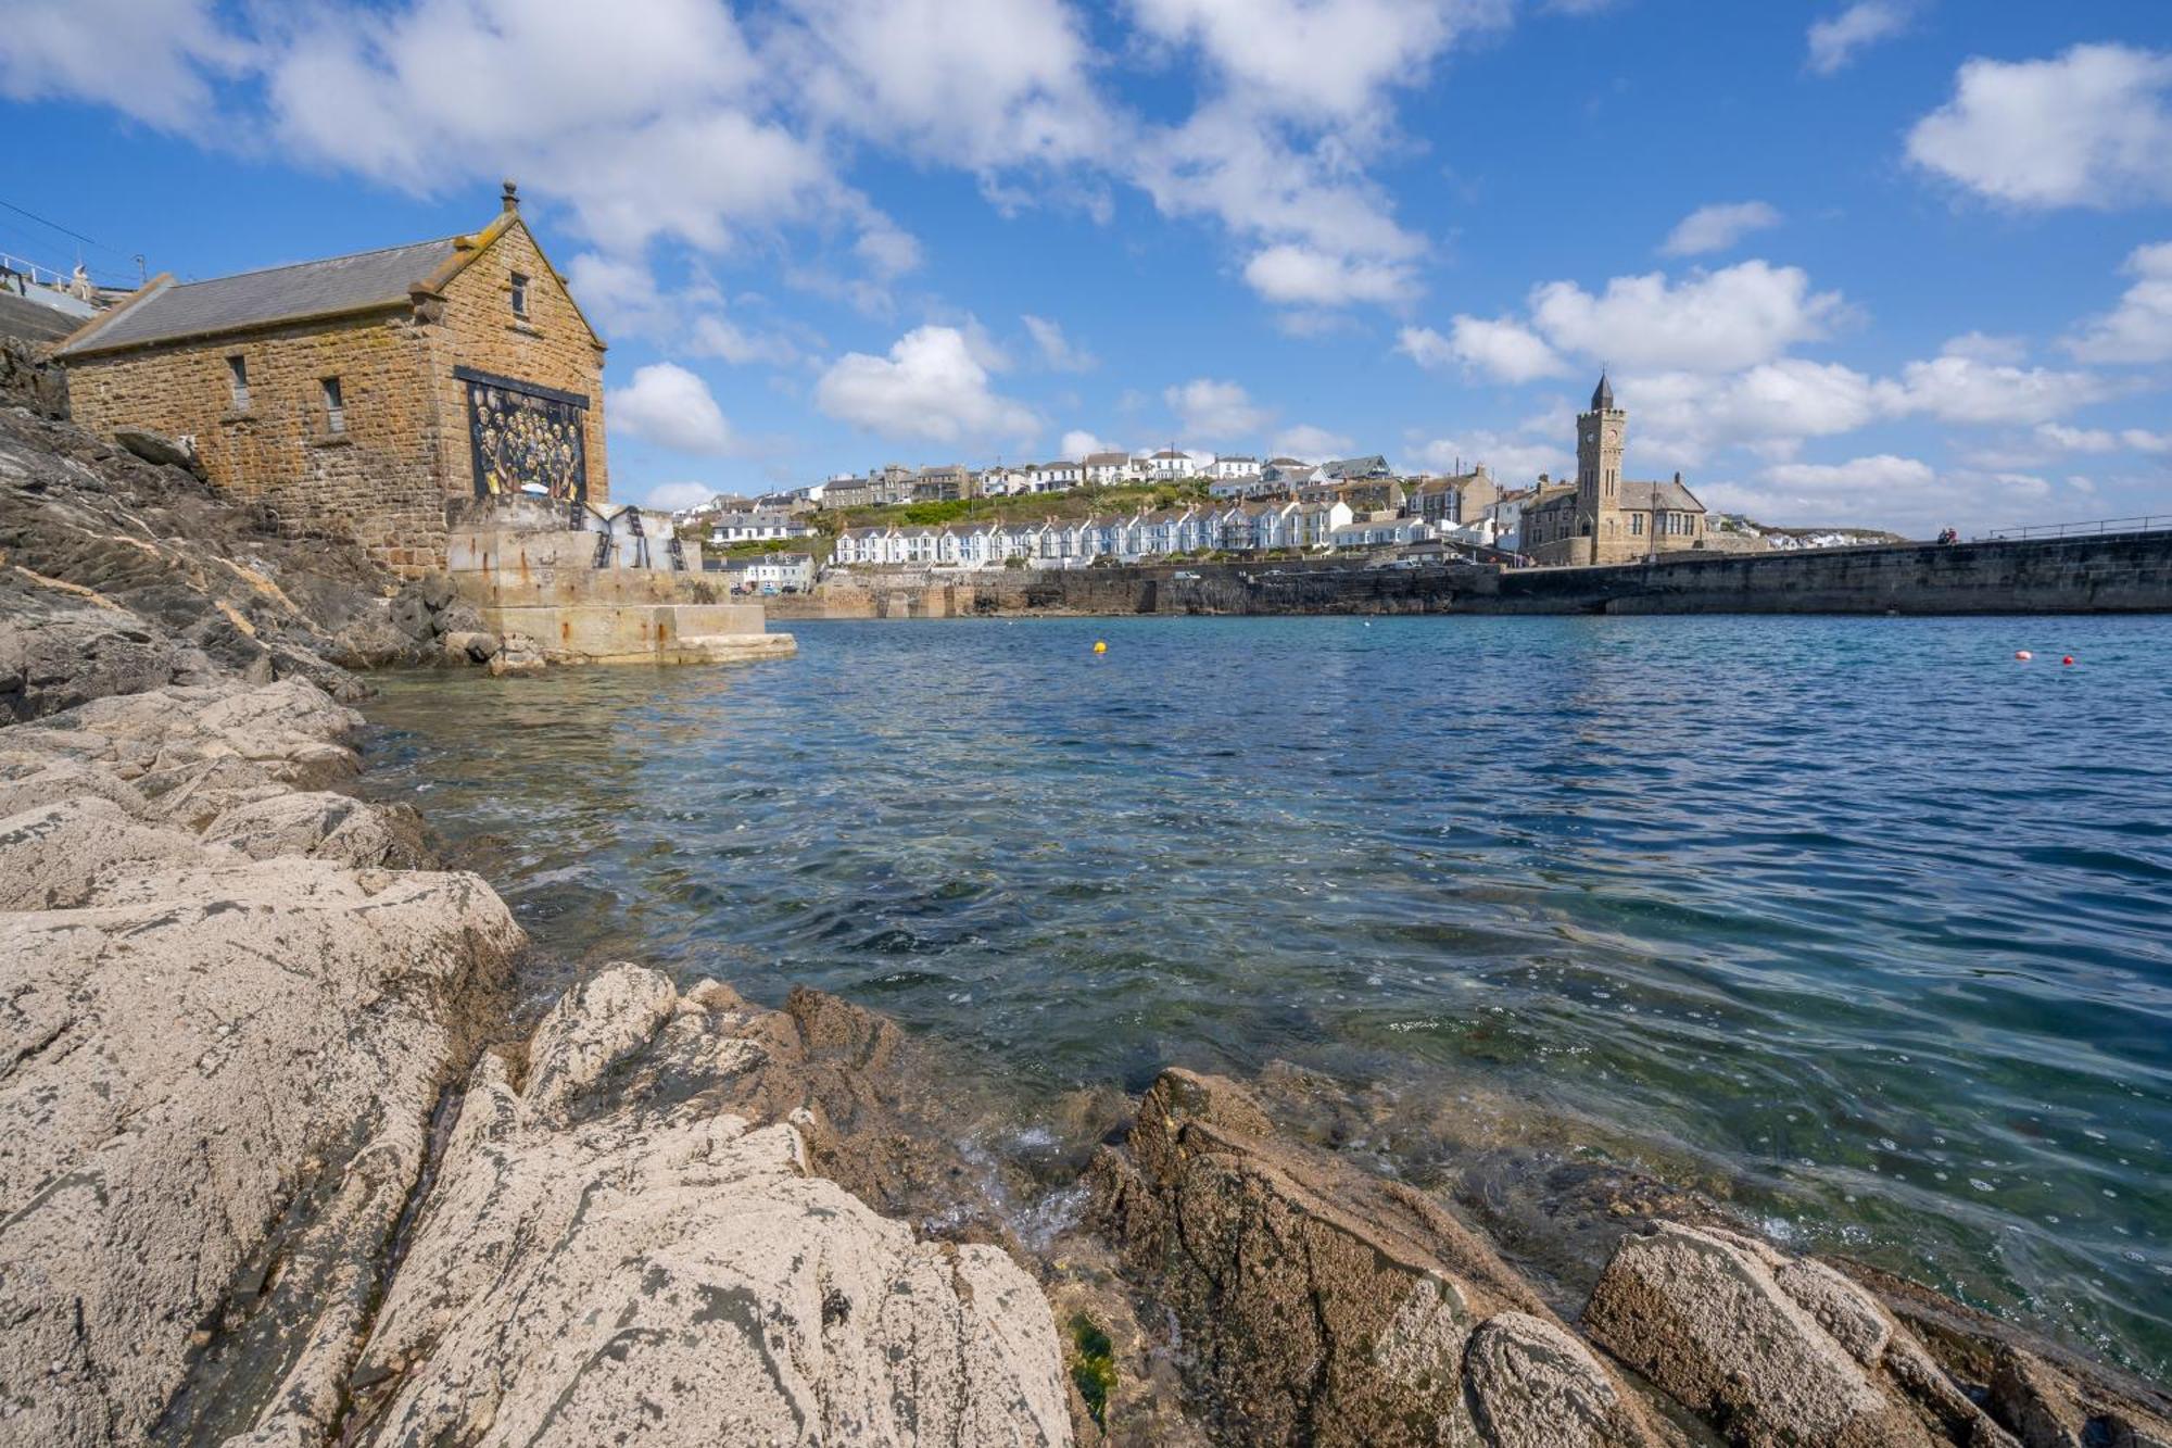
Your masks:
<svg viewBox="0 0 2172 1448"><path fill-rule="evenodd" d="M2120 207L2172 196L2172 54L2074 46L2048 61L1972 59L1907 154L2013 207Z"/></svg>

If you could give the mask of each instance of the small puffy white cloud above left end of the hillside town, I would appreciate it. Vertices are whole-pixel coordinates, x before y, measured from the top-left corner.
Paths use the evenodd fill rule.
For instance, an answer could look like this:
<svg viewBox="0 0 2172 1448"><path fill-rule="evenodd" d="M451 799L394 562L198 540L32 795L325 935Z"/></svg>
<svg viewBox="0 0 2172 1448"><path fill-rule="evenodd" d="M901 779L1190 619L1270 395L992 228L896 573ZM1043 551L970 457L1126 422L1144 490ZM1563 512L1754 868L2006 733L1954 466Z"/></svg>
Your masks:
<svg viewBox="0 0 2172 1448"><path fill-rule="evenodd" d="M1023 446L1040 433L1032 409L988 387L988 370L956 326L914 328L888 357L847 352L815 385L815 404L884 437Z"/></svg>

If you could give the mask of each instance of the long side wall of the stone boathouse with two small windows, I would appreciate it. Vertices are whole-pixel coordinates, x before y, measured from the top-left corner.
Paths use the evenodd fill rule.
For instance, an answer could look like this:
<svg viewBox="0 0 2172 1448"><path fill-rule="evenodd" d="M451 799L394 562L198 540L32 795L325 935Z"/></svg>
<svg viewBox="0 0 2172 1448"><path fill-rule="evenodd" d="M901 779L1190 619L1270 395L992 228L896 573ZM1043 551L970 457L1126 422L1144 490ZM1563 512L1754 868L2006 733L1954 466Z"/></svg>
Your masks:
<svg viewBox="0 0 2172 1448"><path fill-rule="evenodd" d="M263 500L289 537L345 537L397 572L439 561L445 530L432 337L406 313L287 326L224 341L85 357L70 367L74 422L195 439L206 476ZM235 407L228 357L250 378ZM337 376L345 430L330 433Z"/></svg>

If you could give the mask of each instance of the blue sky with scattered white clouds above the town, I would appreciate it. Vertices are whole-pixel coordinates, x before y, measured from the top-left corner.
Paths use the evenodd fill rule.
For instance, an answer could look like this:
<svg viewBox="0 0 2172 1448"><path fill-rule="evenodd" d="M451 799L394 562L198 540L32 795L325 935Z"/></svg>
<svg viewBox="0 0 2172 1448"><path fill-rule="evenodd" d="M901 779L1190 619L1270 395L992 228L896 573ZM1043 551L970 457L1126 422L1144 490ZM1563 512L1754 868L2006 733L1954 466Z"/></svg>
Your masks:
<svg viewBox="0 0 2172 1448"><path fill-rule="evenodd" d="M1166 441L1523 480L1607 363L1629 472L1766 522L2172 513L2157 0L17 0L0 120L0 250L102 276L517 176L619 500Z"/></svg>

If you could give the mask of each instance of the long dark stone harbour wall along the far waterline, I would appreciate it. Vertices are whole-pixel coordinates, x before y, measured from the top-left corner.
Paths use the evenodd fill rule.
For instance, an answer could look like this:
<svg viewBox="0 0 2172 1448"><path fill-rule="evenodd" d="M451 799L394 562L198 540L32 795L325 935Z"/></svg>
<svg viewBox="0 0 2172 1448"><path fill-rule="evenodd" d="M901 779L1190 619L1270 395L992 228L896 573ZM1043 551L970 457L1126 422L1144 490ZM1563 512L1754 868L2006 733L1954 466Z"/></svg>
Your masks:
<svg viewBox="0 0 2172 1448"><path fill-rule="evenodd" d="M771 617L1023 613L2148 613L2172 611L2172 530L1677 554L1607 567L1368 567L1342 559L856 572Z"/></svg>

